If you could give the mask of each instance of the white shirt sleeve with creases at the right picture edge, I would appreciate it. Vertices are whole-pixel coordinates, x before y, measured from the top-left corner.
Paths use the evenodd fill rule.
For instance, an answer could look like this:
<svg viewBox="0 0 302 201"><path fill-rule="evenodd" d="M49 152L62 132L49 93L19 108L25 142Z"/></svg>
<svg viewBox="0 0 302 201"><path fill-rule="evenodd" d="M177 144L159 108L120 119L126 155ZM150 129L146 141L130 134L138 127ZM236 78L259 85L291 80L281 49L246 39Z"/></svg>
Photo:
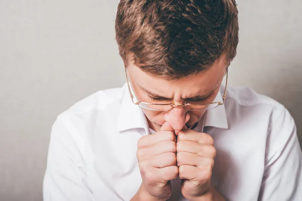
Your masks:
<svg viewBox="0 0 302 201"><path fill-rule="evenodd" d="M302 154L293 118L283 108L269 129L258 200L302 200Z"/></svg>

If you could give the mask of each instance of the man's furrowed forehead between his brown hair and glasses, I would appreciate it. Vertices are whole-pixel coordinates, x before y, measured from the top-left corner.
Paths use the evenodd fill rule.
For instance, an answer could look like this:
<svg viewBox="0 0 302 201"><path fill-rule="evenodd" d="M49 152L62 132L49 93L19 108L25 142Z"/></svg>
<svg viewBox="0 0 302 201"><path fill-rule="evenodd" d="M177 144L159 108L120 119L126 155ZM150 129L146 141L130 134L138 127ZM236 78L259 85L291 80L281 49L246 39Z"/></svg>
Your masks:
<svg viewBox="0 0 302 201"><path fill-rule="evenodd" d="M133 64L128 65L127 69L134 85L139 85L158 95L172 97L179 94L190 97L216 88L224 75L225 64L223 61L216 61L206 71L176 80L148 74Z"/></svg>

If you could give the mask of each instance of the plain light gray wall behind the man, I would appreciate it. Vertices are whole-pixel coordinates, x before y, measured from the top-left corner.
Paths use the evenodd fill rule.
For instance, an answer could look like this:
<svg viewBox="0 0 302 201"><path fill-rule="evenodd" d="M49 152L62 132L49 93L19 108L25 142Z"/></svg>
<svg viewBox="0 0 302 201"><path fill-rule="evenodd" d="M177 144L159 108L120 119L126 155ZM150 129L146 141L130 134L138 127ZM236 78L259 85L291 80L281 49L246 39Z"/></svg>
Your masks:
<svg viewBox="0 0 302 201"><path fill-rule="evenodd" d="M0 200L41 200L50 128L85 96L125 82L117 0L0 0ZM286 106L302 140L301 0L237 2L230 84Z"/></svg>

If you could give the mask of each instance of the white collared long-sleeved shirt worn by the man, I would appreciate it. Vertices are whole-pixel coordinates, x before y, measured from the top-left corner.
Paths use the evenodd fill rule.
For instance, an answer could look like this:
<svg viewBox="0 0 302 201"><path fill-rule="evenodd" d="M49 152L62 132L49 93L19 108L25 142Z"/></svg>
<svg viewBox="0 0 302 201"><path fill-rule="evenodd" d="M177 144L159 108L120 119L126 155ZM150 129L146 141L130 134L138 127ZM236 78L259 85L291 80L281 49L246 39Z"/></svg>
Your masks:
<svg viewBox="0 0 302 201"><path fill-rule="evenodd" d="M204 132L217 150L211 181L226 200L302 200L301 149L282 105L229 87L225 104L207 111ZM52 127L44 200L130 200L142 181L137 141L148 134L126 84L81 100ZM172 181L169 200L186 200L179 182Z"/></svg>

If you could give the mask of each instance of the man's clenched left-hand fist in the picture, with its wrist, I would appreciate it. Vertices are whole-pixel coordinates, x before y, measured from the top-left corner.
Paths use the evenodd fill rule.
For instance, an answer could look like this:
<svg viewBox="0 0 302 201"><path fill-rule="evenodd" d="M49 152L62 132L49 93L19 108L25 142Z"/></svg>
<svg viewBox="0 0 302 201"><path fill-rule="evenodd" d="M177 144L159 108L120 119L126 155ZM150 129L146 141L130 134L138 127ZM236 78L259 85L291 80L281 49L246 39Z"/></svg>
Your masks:
<svg viewBox="0 0 302 201"><path fill-rule="evenodd" d="M133 199L167 200L172 194L170 180L178 175L173 128L165 123L161 131L141 137L137 148L142 184Z"/></svg>

